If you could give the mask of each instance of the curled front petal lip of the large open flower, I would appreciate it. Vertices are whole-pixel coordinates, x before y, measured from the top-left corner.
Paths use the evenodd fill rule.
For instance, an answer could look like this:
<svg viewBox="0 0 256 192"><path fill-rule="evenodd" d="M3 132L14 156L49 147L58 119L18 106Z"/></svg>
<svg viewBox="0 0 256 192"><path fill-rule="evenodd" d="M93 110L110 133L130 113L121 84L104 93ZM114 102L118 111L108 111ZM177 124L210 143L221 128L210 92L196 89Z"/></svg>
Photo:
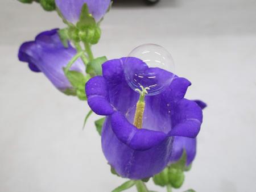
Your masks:
<svg viewBox="0 0 256 192"><path fill-rule="evenodd" d="M160 131L137 129L120 112L111 116L112 130L123 143L135 150L147 150L161 143L167 135Z"/></svg>

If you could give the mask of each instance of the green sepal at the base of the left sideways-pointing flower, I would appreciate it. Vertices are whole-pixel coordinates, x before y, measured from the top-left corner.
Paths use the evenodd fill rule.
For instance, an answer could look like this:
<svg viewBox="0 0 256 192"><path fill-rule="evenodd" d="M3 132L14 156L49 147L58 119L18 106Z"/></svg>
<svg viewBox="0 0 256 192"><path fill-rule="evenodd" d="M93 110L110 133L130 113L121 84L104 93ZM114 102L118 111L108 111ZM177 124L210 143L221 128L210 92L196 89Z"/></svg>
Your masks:
<svg viewBox="0 0 256 192"><path fill-rule="evenodd" d="M89 75L84 76L84 74L77 72L75 70L68 70L68 72L65 72L65 68L63 69L64 69L65 76L68 78L68 81L76 90L77 97L80 100L87 100L84 87L86 82L89 81L90 76Z"/></svg>

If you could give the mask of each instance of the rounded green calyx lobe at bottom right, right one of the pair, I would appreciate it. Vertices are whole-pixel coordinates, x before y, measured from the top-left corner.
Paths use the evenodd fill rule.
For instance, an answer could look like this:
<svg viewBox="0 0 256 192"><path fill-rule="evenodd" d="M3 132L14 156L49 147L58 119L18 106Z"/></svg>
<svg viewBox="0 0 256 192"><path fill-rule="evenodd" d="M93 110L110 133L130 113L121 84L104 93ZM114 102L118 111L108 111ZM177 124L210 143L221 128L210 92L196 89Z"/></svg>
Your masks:
<svg viewBox="0 0 256 192"><path fill-rule="evenodd" d="M171 186L176 188L176 189L180 188L181 185L184 182L184 179L185 179L185 175L184 175L183 170L171 167L169 169L168 175L169 175L168 178L169 178L169 181L171 183Z"/></svg>

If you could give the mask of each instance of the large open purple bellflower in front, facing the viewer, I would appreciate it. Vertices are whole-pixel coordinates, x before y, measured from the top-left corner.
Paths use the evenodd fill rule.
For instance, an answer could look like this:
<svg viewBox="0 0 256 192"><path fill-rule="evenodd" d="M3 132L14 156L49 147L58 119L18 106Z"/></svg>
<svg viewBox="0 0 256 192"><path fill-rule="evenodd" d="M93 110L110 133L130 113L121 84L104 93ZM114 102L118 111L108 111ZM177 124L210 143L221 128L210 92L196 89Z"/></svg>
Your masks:
<svg viewBox="0 0 256 192"><path fill-rule="evenodd" d="M167 166L173 136L197 136L203 114L196 102L184 99L191 83L175 76L162 93L145 97L142 129L135 127L131 122L139 94L125 80L124 61L125 58L105 62L103 77L90 79L85 90L90 108L98 115L106 115L101 139L106 159L122 177L139 180L151 177ZM141 60L133 60L133 66L138 69L142 65ZM162 71L160 78L166 78L169 73L159 68L150 69L151 72L154 70Z"/></svg>

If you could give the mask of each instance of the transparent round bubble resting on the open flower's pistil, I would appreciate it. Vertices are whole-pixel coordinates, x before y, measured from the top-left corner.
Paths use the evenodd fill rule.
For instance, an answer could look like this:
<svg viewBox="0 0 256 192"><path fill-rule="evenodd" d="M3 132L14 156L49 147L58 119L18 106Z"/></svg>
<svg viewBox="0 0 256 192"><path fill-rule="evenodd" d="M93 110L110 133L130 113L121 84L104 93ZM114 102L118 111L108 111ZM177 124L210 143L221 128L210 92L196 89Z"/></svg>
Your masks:
<svg viewBox="0 0 256 192"><path fill-rule="evenodd" d="M171 54L156 44L140 45L124 62L125 78L131 89L148 87L147 95L159 94L170 85L174 70Z"/></svg>

